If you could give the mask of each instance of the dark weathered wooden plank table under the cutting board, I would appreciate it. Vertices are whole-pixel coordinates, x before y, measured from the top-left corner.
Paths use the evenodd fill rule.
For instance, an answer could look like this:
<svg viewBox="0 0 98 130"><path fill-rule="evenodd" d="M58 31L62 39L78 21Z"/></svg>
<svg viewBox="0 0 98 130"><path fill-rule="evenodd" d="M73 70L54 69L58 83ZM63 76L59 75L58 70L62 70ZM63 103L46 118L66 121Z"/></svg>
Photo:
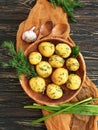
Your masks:
<svg viewBox="0 0 98 130"><path fill-rule="evenodd" d="M81 0L81 3L84 7L75 11L78 22L70 22L70 35L81 47L87 75L98 86L98 0ZM15 43L18 26L28 13L29 7L23 0L0 0L0 64L10 59L1 43ZM14 69L4 69L0 65L0 130L46 130L44 123L29 125L30 121L42 116L39 110L23 108L33 102L22 90Z"/></svg>

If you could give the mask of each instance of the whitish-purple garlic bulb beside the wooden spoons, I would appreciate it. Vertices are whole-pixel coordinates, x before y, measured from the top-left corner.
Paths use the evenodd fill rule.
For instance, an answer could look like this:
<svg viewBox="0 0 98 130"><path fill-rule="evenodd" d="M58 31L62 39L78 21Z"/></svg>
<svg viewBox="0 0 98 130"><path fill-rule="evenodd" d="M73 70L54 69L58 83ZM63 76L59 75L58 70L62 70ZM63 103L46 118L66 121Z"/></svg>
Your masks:
<svg viewBox="0 0 98 130"><path fill-rule="evenodd" d="M34 42L37 39L37 35L34 32L35 26L32 27L30 30L26 31L22 35L22 40L24 40L27 43Z"/></svg>

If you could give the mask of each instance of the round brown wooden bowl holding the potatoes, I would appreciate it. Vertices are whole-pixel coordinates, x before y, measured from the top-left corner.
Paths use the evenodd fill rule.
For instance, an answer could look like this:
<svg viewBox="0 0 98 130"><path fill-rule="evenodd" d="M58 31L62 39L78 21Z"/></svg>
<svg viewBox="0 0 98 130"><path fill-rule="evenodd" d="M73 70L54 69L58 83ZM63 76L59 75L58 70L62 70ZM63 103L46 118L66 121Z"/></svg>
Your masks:
<svg viewBox="0 0 98 130"><path fill-rule="evenodd" d="M43 40L38 40L35 43L32 43L25 51L25 55L28 56L29 53L33 52L33 51L38 51L38 45L41 42L52 42L55 45L61 42L67 43L71 48L74 46L72 45L70 42L65 41L63 39L60 38L51 38L51 39L43 39ZM58 105L58 104L62 104L65 102L69 102L72 98L74 98L79 91L82 88L82 84L85 80L85 76L86 76L86 67L85 67L85 62L83 59L83 56L81 55L81 53L79 53L78 57L77 57L79 63L80 63L80 67L77 71L77 74L81 77L81 85L79 87L79 89L77 90L70 90L67 87L63 87L65 89L65 93L63 94L63 96L59 99L50 99L46 94L42 94L42 93L37 93L34 92L30 86L29 86L29 82L28 79L25 77L25 75L21 76L21 80L20 83L22 85L22 88L24 89L24 91L27 93L27 95L32 98L33 100L35 100L37 103L40 104L44 104L44 105Z"/></svg>

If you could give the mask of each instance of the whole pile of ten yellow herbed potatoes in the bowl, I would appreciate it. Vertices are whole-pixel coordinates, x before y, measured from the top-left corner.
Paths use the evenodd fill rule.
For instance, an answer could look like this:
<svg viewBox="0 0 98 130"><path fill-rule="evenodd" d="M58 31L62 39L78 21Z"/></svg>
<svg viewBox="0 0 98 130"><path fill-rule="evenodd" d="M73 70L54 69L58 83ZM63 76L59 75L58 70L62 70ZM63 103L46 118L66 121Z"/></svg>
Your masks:
<svg viewBox="0 0 98 130"><path fill-rule="evenodd" d="M30 64L35 66L37 77L29 80L31 89L35 92L44 92L51 99L62 97L62 85L76 90L81 85L81 78L73 72L79 69L79 62L71 57L72 49L66 43L54 45L51 42L42 42L38 51L29 54ZM69 74L71 72L71 74ZM46 85L46 79L51 83Z"/></svg>

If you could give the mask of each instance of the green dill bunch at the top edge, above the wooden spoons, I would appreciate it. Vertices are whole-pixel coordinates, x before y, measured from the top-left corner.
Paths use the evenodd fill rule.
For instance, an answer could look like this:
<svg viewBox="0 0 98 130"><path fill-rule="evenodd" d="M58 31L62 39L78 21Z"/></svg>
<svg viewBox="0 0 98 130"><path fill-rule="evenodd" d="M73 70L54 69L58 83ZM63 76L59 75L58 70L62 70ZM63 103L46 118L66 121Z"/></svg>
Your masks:
<svg viewBox="0 0 98 130"><path fill-rule="evenodd" d="M74 22L76 22L76 19L74 17L74 9L77 7L82 7L82 4L79 0L49 0L54 7L55 6L61 6L64 12L68 14L70 19Z"/></svg>

